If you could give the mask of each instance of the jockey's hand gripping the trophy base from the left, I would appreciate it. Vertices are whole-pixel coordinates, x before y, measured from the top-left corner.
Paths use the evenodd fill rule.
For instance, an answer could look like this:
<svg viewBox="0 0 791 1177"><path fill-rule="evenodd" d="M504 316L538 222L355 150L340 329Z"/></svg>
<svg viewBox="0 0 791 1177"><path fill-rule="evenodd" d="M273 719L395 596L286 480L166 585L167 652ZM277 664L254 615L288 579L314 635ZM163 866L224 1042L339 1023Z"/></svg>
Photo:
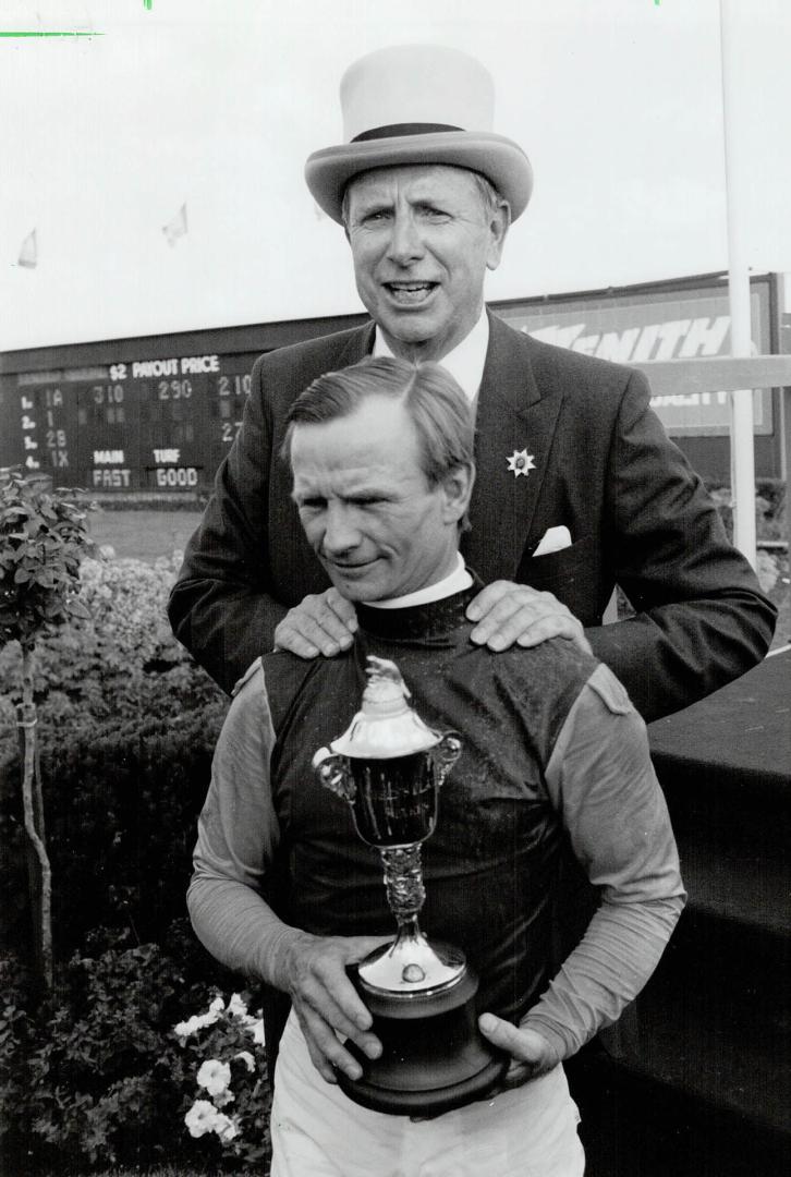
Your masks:
<svg viewBox="0 0 791 1177"><path fill-rule="evenodd" d="M359 1063L338 1040L350 1038L368 1058L381 1044L371 1033L371 1013L352 985L346 967L363 960L384 936L311 936L299 933L285 956L284 988L288 990L313 1065L327 1083L337 1083L335 1068L350 1079L361 1075Z"/></svg>

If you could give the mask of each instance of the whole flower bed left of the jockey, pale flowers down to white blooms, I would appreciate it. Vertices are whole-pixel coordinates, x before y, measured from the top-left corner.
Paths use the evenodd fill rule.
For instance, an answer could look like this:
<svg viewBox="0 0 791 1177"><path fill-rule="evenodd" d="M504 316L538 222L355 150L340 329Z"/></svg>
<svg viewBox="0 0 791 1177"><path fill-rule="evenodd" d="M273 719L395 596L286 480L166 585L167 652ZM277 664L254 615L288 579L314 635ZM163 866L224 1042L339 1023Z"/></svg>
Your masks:
<svg viewBox="0 0 791 1177"><path fill-rule="evenodd" d="M42 1004L28 971L20 653L13 643L0 650L0 1153L12 1171L266 1169L255 998L234 992L239 979L208 958L185 917L227 699L171 634L165 605L179 565L178 553L153 566L84 561L89 618L39 643L56 955Z"/></svg>

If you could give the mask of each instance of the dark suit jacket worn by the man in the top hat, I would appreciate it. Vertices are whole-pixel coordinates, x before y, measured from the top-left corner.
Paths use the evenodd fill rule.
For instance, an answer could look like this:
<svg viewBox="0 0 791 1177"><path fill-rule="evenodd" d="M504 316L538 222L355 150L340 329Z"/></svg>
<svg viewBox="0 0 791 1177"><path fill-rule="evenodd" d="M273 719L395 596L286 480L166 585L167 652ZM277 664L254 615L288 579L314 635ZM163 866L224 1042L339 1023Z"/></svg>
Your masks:
<svg viewBox="0 0 791 1177"><path fill-rule="evenodd" d="M554 593L646 719L749 670L771 641L773 606L649 407L643 375L538 343L494 315L490 322L472 530L461 545L468 564L486 583ZM288 406L372 345L368 325L255 363L241 431L170 604L177 637L227 691L272 649L287 609L330 584L278 457ZM516 477L507 459L521 450L534 470ZM546 528L561 524L572 546L533 557ZM601 626L616 584L636 616Z"/></svg>

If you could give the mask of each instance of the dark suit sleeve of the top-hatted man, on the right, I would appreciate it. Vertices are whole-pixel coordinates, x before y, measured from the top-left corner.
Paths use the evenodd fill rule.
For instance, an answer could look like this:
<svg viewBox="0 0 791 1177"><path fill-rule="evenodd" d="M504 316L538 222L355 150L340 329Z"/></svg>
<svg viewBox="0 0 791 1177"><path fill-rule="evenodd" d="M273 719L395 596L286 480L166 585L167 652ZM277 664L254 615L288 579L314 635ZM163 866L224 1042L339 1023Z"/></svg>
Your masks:
<svg viewBox="0 0 791 1177"><path fill-rule="evenodd" d="M611 446L603 537L606 564L636 613L586 630L646 720L755 666L777 617L649 397L645 378L633 373Z"/></svg>

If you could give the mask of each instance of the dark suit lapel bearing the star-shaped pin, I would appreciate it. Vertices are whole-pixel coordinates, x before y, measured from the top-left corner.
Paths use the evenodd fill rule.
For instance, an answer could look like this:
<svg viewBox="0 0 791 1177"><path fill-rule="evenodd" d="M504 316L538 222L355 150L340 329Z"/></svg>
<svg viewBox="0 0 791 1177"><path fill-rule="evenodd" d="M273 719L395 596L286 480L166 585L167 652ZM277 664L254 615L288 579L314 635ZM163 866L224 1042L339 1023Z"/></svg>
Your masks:
<svg viewBox="0 0 791 1177"><path fill-rule="evenodd" d="M490 313L486 366L476 419L476 487L461 551L487 584L513 579L525 552L563 403L558 390L539 390L527 340ZM534 468L508 470L521 451Z"/></svg>

